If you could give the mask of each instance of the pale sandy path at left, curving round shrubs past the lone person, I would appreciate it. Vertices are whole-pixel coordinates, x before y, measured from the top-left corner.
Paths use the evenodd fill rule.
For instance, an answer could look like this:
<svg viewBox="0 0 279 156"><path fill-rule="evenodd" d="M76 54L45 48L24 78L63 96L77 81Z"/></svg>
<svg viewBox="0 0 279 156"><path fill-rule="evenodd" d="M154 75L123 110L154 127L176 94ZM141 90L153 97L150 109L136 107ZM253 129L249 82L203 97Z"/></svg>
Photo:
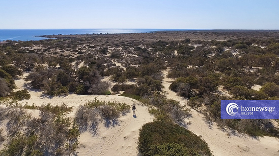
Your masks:
<svg viewBox="0 0 279 156"><path fill-rule="evenodd" d="M21 78L28 73L24 73ZM26 88L25 82L22 79L15 81L17 90ZM76 95L69 94L60 97L48 97L42 94L40 90L29 90L31 99L19 101L23 105L27 102L29 105L42 105L51 103L52 105L73 106L73 111L68 114L70 118L74 118L76 108L79 105L85 104L89 100L94 100L95 97L101 101L118 101L132 105L136 100L119 95ZM137 141L139 137L139 129L145 124L152 122L154 117L148 113L147 107L136 104L136 116L132 112L127 113L119 118L118 125L115 127L105 127L103 123L98 126L97 135L91 132L81 133L79 137L79 146L77 148L78 155L139 155L137 150ZM32 112L31 110L30 112ZM36 116L38 116L36 111ZM35 114L34 114L35 115Z"/></svg>

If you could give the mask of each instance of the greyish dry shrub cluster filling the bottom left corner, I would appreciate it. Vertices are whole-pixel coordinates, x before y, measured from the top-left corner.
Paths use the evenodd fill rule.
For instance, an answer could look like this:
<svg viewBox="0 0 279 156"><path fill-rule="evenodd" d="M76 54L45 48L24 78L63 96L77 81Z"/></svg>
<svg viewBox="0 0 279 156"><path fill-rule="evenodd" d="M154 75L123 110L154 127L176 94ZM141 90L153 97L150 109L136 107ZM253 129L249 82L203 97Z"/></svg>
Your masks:
<svg viewBox="0 0 279 156"><path fill-rule="evenodd" d="M0 154L76 155L79 131L76 124L61 113L64 107L43 106L38 119L22 108L1 108L1 120L8 120L9 141Z"/></svg>

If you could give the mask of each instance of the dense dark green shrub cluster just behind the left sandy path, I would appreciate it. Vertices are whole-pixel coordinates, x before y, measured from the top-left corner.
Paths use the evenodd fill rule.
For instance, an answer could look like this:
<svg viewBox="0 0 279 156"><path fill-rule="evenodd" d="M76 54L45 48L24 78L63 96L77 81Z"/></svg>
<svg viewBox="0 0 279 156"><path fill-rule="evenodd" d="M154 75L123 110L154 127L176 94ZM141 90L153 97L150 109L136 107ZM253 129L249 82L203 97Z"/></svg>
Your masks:
<svg viewBox="0 0 279 156"><path fill-rule="evenodd" d="M69 62L68 62L69 63ZM32 72L25 77L25 81L35 89L44 90L44 94L57 96L68 92L77 94L106 94L110 83L102 82L97 70L83 66L73 70L67 62L63 62L62 69L48 68Z"/></svg>

